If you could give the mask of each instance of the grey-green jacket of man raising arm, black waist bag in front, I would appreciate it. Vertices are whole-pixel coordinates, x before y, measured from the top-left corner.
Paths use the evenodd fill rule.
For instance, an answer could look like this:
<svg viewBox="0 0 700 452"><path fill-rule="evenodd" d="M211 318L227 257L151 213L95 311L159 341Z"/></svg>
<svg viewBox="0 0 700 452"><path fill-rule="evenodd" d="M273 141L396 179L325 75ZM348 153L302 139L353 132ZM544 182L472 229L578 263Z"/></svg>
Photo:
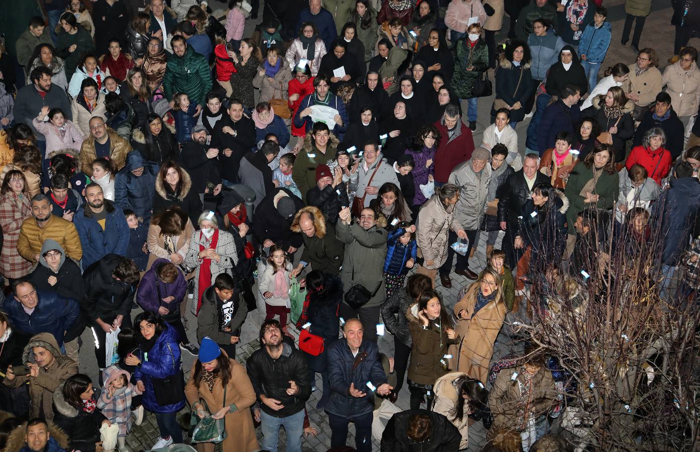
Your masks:
<svg viewBox="0 0 700 452"><path fill-rule="evenodd" d="M365 231L356 222L348 226L344 221L338 221L335 234L338 240L345 244L343 266L340 270L344 290L348 291L355 284L362 284L370 292L377 290L384 281L382 270L386 259L386 229L374 225ZM385 298L386 291L379 287L365 307L379 306Z"/></svg>

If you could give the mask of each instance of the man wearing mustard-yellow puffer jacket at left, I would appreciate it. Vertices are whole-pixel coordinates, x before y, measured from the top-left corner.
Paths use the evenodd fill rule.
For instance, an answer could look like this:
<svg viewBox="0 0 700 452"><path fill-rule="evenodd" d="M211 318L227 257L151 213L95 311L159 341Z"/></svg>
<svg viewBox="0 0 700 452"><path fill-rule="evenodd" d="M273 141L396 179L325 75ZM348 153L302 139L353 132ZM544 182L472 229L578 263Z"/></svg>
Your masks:
<svg viewBox="0 0 700 452"><path fill-rule="evenodd" d="M73 261L80 261L83 257L76 226L51 214L51 201L47 196L34 195L31 198L31 218L22 222L17 251L27 261L38 262L44 240L49 238L58 242L66 250L66 256Z"/></svg>

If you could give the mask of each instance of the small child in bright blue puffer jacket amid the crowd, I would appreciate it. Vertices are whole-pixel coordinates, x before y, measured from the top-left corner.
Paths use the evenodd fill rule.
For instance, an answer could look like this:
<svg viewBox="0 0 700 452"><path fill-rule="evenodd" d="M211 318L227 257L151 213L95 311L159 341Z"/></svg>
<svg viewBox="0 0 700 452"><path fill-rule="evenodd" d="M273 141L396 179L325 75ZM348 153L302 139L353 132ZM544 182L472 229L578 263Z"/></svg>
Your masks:
<svg viewBox="0 0 700 452"><path fill-rule="evenodd" d="M396 221L396 220L394 220ZM384 260L384 285L386 298L393 291L403 287L408 270L416 263L416 226L402 221L389 233L386 240L386 259Z"/></svg>

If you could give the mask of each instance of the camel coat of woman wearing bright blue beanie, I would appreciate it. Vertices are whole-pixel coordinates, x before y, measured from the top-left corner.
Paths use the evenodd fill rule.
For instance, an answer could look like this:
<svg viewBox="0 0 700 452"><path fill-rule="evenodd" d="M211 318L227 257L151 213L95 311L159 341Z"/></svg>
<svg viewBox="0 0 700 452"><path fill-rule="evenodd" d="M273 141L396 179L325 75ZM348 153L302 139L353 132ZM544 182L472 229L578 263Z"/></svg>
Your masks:
<svg viewBox="0 0 700 452"><path fill-rule="evenodd" d="M223 351L221 353L224 353ZM251 379L246 374L246 369L237 360L229 360L231 365L231 379L226 386L226 404L235 404L236 411L229 411L226 414L225 430L226 439L223 440L222 446L224 451L257 451L260 449L258 439L255 437L255 426L253 425L253 416L251 416L251 407L255 403L255 391ZM217 377L214 381L214 391L209 392L209 386L200 381L200 386L195 386L195 367L197 361L192 366L190 379L185 386L185 397L187 398L190 407L193 403L198 402L200 398L207 402L207 407L211 414L223 408L223 386L221 378ZM195 414L193 414L195 416ZM197 444L198 452L214 452L214 444Z"/></svg>

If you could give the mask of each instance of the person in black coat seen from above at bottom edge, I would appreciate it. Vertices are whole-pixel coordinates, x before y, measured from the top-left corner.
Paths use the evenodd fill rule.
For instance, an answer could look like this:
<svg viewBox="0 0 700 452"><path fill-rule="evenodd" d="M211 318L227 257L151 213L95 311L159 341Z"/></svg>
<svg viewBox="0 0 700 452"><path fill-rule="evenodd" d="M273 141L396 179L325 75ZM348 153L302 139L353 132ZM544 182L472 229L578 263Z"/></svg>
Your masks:
<svg viewBox="0 0 700 452"><path fill-rule="evenodd" d="M424 426L421 428L421 426ZM382 451L456 451L462 435L445 416L427 409L407 409L391 416L381 434Z"/></svg>

